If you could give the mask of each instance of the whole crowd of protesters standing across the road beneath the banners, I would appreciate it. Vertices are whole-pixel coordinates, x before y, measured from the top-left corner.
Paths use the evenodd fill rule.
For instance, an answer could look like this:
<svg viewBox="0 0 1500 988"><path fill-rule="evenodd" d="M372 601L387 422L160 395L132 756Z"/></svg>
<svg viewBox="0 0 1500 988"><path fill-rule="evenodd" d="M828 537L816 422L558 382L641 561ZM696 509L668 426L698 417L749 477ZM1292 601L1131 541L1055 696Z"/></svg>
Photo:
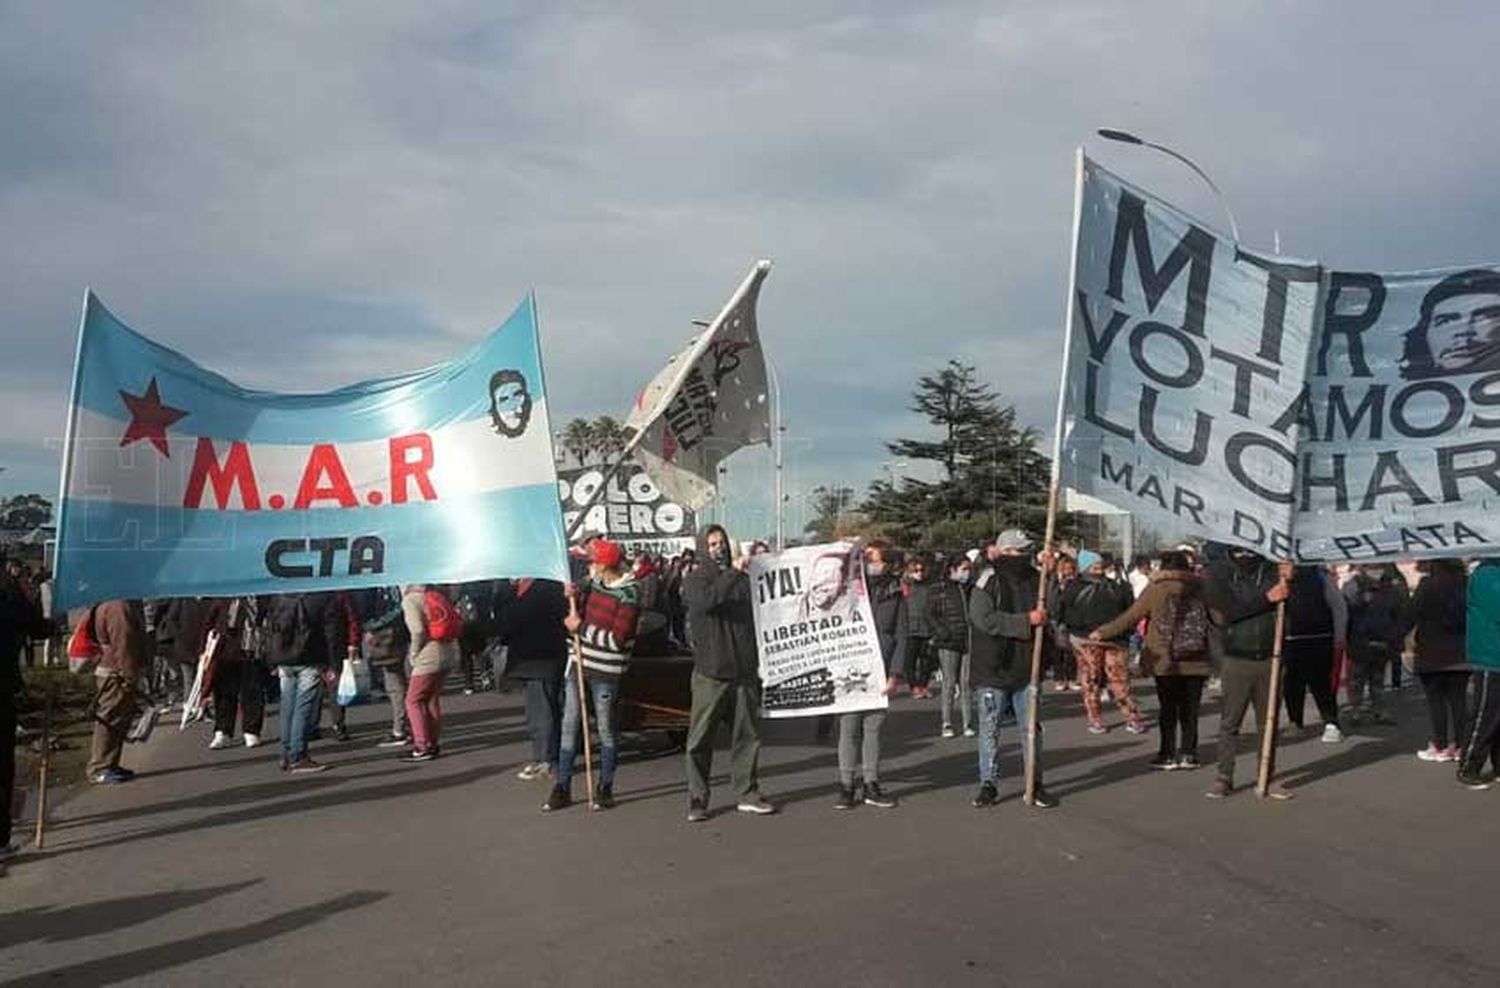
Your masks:
<svg viewBox="0 0 1500 988"><path fill-rule="evenodd" d="M944 739L975 739L975 807L999 801L1002 724L1014 724L1023 757L1035 766L1029 802L1054 805L1041 778L1042 735L1028 730L1038 703L1034 643L1054 690L1082 694L1089 733L1110 730L1106 700L1124 729L1156 732L1160 771L1198 762L1204 694L1221 700L1216 769L1210 798L1236 789L1240 726L1254 708L1264 724L1270 705L1286 708L1302 730L1311 694L1323 742L1346 730L1394 724L1388 684L1400 687L1404 658L1426 696L1431 733L1424 762L1452 763L1460 784L1485 789L1500 768L1500 561L1420 565L1410 588L1396 567L1276 564L1248 550L1180 546L1126 567L1078 550L1038 553L1011 529L966 552L908 558L873 540L862 546L864 573L885 691L938 699ZM730 733L735 808L770 814L759 786L760 682L747 564L766 552L742 547L710 526L696 550L672 559L627 559L622 547L591 540L568 585L495 580L459 586L286 594L232 600L112 600L76 618L98 646L93 747L88 780L122 784L126 736L141 711L184 702L206 655L212 660L208 747L262 744L266 709L279 709L280 768L320 772L309 745L332 730L350 738L344 706L327 705L345 660L376 673L390 703L390 730L378 744L410 762L442 754L441 697L450 675L460 688L519 684L531 739L519 778L549 783L543 810L573 804L585 714L597 747L592 808L615 805L620 762L621 684L642 651L692 652L692 711L686 732L687 819L708 819L714 738ZM1270 657L1278 612L1284 676L1270 696ZM50 609L50 579L9 565L0 576L0 736L16 733L21 657L44 663L58 652L64 622ZM579 663L582 667L576 667ZM1156 721L1131 691L1150 678ZM1340 684L1346 685L1340 703ZM892 808L880 783L886 711L842 714L837 723L836 802ZM820 726L820 733L822 733ZM9 807L14 747L0 745L0 789ZM1292 798L1274 784L1268 793ZM9 814L3 817L9 849Z"/></svg>

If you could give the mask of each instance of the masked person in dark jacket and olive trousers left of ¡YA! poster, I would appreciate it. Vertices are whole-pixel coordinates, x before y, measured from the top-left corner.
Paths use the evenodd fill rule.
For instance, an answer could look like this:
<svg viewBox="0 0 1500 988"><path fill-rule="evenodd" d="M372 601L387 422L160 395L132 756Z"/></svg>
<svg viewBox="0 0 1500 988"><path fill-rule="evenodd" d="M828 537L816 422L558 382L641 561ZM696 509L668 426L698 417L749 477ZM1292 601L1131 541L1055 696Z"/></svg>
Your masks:
<svg viewBox="0 0 1500 988"><path fill-rule="evenodd" d="M723 525L699 537L704 565L682 579L682 603L693 622L693 711L687 729L687 822L708 819L714 736L730 724L729 763L740 813L766 816L760 798L760 670L754 640L750 556L735 559Z"/></svg>

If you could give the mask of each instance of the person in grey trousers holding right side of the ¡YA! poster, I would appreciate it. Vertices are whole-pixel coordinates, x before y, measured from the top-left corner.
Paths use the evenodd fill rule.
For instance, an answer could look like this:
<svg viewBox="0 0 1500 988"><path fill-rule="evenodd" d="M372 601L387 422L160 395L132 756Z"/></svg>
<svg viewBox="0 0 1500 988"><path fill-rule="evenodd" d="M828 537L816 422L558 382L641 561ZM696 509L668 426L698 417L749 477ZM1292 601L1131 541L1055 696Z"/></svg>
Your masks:
<svg viewBox="0 0 1500 988"><path fill-rule="evenodd" d="M882 540L864 547L864 582L874 612L874 633L885 660L885 694L896 693L906 678L906 649L910 628L906 595L902 592L900 555ZM836 810L854 810L855 762L862 768L862 802L867 807L891 810L896 798L880 789L880 727L885 711L858 711L838 715L838 802Z"/></svg>

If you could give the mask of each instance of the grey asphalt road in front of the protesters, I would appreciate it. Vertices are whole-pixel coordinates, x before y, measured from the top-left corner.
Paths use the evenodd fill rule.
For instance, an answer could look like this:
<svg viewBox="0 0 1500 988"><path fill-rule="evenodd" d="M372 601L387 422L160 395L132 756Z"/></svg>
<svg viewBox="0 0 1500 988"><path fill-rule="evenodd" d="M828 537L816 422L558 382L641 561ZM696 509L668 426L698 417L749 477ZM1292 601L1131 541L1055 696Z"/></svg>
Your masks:
<svg viewBox="0 0 1500 988"><path fill-rule="evenodd" d="M970 808L974 742L903 699L900 808L836 813L832 747L782 723L762 768L783 813L722 802L698 826L680 756L626 762L610 813L543 816L514 778L516 696L447 700L448 754L414 766L360 708L316 777L162 732L130 751L135 783L66 802L0 879L0 988L1500 979L1500 789L1412 757L1418 693L1400 733L1287 745L1286 804L1208 801L1210 769L1152 774L1154 736L1089 736L1077 697L1047 700L1056 810L1016 799L1014 729L1005 801Z"/></svg>

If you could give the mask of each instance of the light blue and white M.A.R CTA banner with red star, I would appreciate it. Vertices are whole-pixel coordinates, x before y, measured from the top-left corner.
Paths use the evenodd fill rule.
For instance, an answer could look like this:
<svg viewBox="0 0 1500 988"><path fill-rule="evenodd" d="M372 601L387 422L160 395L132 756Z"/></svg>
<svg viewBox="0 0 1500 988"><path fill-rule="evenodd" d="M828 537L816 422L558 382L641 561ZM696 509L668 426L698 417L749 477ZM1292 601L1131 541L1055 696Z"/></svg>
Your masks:
<svg viewBox="0 0 1500 988"><path fill-rule="evenodd" d="M566 580L534 300L453 361L280 394L200 367L88 294L58 502L62 607Z"/></svg>

